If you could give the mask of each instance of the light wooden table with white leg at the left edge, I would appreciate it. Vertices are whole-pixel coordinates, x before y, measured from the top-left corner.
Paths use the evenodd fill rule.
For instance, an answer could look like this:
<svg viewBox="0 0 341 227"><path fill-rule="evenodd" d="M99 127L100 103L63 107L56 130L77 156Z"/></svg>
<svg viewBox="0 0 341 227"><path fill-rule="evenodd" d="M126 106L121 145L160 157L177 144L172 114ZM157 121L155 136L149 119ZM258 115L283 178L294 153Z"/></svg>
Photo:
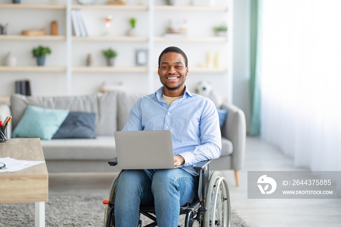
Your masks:
<svg viewBox="0 0 341 227"><path fill-rule="evenodd" d="M0 143L0 157L45 161L39 138L9 139ZM16 172L0 173L0 203L36 203L36 227L45 226L45 202L48 201L46 164Z"/></svg>

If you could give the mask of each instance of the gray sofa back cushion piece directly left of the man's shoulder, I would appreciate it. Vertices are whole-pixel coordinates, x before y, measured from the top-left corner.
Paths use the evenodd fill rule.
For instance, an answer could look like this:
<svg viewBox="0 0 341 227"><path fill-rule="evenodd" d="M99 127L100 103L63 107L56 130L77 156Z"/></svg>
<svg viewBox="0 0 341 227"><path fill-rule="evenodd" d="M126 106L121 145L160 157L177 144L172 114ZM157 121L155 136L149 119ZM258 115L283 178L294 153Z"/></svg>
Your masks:
<svg viewBox="0 0 341 227"><path fill-rule="evenodd" d="M117 93L117 130L122 131L129 117L130 109L134 103L144 94L139 93Z"/></svg>

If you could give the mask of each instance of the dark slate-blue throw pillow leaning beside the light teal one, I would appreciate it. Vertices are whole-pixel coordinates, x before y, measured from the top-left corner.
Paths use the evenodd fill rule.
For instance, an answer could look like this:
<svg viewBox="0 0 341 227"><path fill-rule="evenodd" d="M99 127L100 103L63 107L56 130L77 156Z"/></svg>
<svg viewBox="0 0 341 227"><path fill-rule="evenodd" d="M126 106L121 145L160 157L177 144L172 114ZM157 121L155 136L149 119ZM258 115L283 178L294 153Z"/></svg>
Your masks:
<svg viewBox="0 0 341 227"><path fill-rule="evenodd" d="M70 112L52 139L95 138L94 113Z"/></svg>

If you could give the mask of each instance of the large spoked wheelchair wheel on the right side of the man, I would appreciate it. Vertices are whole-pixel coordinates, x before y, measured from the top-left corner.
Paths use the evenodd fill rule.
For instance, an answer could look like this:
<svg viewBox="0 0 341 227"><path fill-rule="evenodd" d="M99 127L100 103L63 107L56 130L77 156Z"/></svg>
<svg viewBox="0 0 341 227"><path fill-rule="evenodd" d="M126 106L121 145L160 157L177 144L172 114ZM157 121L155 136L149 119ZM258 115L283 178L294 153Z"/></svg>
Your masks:
<svg viewBox="0 0 341 227"><path fill-rule="evenodd" d="M204 227L230 227L230 199L227 181L219 171L213 172L206 191Z"/></svg>

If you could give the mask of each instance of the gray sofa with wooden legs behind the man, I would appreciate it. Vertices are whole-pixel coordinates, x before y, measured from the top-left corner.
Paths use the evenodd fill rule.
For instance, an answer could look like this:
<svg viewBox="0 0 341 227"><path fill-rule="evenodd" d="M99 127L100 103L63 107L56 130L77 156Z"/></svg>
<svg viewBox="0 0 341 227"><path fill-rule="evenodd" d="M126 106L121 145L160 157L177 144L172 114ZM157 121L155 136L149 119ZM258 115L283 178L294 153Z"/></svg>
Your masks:
<svg viewBox="0 0 341 227"><path fill-rule="evenodd" d="M41 140L47 169L49 172L118 171L108 165L108 161L116 157L114 131L122 130L131 107L141 96L124 92L55 97L14 94L10 103L0 103L0 119L13 116L7 132L11 138L12 128L28 105L95 113L95 139ZM210 164L210 169L235 170L238 185L237 173L243 167L245 153L245 115L231 104L225 103L222 108L228 110L222 128L222 154Z"/></svg>

